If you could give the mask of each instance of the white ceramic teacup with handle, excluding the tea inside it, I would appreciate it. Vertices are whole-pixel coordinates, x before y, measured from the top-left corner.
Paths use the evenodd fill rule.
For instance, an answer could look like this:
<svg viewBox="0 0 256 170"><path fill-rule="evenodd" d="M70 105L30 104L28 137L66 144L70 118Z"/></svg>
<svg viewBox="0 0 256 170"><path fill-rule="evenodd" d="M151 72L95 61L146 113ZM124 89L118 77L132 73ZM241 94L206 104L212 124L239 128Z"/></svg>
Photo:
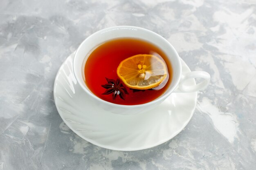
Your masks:
<svg viewBox="0 0 256 170"><path fill-rule="evenodd" d="M157 99L148 102L146 104L139 105L120 105L107 102L103 99L100 99L94 95L90 89L85 84L84 77L84 66L89 54L103 42L106 42L115 38L139 38L146 40L159 46L162 51L168 56L168 59L171 62L173 68L173 79L167 90ZM132 115L137 113L142 113L150 109L155 108L155 106L161 104L171 93L173 92L184 92L191 93L204 89L210 81L210 75L204 71L192 71L186 75L182 75L182 66L178 53L173 48L173 46L162 36L135 26L114 26L106 29L102 29L93 33L88 38L86 38L76 50L73 61L74 75L77 79L77 82L81 88L88 94L94 101L94 104L103 108L104 110L110 111L112 113L122 114L122 115ZM185 82L191 78L202 78L204 79L199 84L193 86L186 86Z"/></svg>

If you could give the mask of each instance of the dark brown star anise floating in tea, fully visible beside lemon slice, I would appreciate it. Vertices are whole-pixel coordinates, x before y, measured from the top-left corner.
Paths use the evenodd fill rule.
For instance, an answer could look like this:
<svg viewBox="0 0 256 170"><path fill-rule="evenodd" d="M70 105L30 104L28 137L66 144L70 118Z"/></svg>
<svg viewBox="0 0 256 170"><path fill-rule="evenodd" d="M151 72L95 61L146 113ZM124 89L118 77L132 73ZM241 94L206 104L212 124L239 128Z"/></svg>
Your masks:
<svg viewBox="0 0 256 170"><path fill-rule="evenodd" d="M120 80L117 79L116 81L114 79L108 79L105 77L107 80L107 84L101 85L103 88L106 88L106 91L102 93L102 95L109 95L112 93L112 99L115 101L117 96L119 96L121 99L125 99L125 95L129 94L126 90L126 87L121 84Z"/></svg>

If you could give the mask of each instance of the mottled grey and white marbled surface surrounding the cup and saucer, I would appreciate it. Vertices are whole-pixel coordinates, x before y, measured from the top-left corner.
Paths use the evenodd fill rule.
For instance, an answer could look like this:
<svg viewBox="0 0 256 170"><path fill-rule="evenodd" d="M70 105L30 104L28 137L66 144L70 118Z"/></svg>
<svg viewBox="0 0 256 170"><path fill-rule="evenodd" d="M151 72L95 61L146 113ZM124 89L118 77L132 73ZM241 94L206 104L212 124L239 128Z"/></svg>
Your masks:
<svg viewBox="0 0 256 170"><path fill-rule="evenodd" d="M140 26L211 74L172 140L120 152L72 132L53 100L56 72L88 35ZM0 0L0 170L255 170L255 0Z"/></svg>

